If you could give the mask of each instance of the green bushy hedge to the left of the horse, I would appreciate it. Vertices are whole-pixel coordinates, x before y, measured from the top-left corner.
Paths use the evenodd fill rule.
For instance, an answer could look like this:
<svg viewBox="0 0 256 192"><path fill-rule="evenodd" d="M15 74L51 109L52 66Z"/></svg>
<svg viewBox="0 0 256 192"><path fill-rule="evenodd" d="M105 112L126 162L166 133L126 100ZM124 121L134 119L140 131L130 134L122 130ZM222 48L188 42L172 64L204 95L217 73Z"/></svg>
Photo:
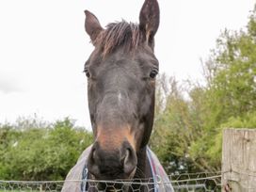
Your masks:
<svg viewBox="0 0 256 192"><path fill-rule="evenodd" d="M92 142L92 136L70 119L53 124L20 120L0 127L0 178L63 180Z"/></svg>

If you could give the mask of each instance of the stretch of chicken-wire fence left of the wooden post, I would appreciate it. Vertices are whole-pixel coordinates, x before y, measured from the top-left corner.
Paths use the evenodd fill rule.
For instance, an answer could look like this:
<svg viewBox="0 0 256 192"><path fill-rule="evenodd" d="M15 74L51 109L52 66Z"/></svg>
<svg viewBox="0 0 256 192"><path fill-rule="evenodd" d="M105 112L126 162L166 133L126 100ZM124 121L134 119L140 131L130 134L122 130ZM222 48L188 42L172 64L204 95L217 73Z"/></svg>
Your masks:
<svg viewBox="0 0 256 192"><path fill-rule="evenodd" d="M172 185L175 192L220 192L221 172L185 173L170 175L170 183L160 178L136 179L134 181L95 181L87 180L88 191L154 191ZM85 181L66 181L82 184ZM59 192L64 181L0 181L0 192ZM168 190L167 190L168 191Z"/></svg>

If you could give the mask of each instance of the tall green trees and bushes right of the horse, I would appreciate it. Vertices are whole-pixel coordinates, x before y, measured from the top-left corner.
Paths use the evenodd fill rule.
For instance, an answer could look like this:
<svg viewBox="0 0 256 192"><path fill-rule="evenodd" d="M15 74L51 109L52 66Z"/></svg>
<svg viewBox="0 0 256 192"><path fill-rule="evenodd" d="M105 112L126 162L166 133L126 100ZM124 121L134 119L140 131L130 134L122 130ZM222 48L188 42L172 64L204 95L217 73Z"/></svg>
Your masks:
<svg viewBox="0 0 256 192"><path fill-rule="evenodd" d="M158 79L151 146L169 173L221 167L222 130L256 128L256 9L225 30L203 66L206 85Z"/></svg>

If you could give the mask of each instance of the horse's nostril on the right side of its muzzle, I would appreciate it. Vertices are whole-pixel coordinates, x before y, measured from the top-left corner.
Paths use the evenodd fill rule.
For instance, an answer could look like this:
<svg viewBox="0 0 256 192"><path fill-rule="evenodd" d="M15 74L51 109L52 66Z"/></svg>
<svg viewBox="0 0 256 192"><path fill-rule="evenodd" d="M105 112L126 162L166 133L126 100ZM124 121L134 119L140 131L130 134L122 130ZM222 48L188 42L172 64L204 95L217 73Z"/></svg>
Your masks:
<svg viewBox="0 0 256 192"><path fill-rule="evenodd" d="M123 160L124 173L130 175L136 168L136 153L132 148L127 148Z"/></svg>

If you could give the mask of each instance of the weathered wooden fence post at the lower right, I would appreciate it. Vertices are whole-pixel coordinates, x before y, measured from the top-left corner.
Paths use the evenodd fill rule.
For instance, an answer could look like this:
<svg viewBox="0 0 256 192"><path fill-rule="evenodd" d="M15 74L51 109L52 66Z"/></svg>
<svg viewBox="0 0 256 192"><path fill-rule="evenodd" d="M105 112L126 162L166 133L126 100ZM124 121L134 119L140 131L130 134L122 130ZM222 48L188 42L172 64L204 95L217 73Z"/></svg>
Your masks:
<svg viewBox="0 0 256 192"><path fill-rule="evenodd" d="M256 191L256 129L225 129L221 184L232 192Z"/></svg>

